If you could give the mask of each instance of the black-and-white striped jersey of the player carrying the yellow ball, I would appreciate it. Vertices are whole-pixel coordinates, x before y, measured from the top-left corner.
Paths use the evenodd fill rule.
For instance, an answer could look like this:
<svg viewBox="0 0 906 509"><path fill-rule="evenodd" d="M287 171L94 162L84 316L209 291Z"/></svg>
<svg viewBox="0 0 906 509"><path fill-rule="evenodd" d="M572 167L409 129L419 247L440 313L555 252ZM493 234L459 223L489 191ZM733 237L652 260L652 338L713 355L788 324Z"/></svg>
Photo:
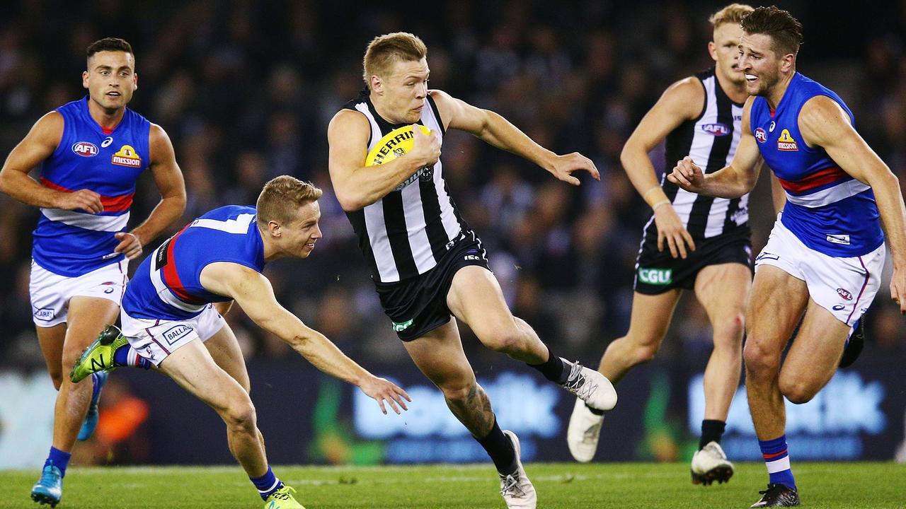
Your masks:
<svg viewBox="0 0 906 509"><path fill-rule="evenodd" d="M385 134L403 126L390 124L378 115L367 89L344 108L361 112L371 124L366 151ZM430 95L425 98L419 123L436 131L443 140L443 122ZM359 237L372 277L379 283L398 282L428 272L468 229L449 196L440 160L431 168L419 169L387 196L347 212L346 216Z"/></svg>

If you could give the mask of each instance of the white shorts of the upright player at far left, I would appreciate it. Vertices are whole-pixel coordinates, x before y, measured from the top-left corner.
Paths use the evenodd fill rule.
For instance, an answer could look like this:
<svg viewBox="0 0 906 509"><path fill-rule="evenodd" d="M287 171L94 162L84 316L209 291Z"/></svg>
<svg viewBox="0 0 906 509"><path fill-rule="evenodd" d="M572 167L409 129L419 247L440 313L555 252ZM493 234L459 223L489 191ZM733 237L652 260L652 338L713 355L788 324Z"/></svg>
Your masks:
<svg viewBox="0 0 906 509"><path fill-rule="evenodd" d="M98 297L120 305L129 277L129 260L104 265L88 274L70 277L54 274L34 263L28 283L32 297L32 320L37 327L53 327L66 322L72 297Z"/></svg>

